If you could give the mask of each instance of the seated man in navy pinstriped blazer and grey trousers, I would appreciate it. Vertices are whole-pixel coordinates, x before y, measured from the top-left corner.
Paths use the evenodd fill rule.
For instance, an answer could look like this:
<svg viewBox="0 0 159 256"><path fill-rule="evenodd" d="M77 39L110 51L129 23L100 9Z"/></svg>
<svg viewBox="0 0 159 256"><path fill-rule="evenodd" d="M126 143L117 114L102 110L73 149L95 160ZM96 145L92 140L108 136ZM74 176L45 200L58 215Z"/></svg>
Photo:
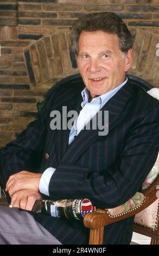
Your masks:
<svg viewBox="0 0 159 256"><path fill-rule="evenodd" d="M158 102L125 77L132 64L125 23L113 13L85 15L72 26L71 43L84 83L55 86L39 118L1 149L1 184L14 208L0 208L0 243L88 243L82 222L27 210L44 196L118 206L141 191L157 158ZM62 106L80 114L71 130L52 130L50 112ZM105 135L84 129L99 111L109 111ZM106 120L102 115L104 127ZM129 244L132 223L133 217L105 227L104 243Z"/></svg>

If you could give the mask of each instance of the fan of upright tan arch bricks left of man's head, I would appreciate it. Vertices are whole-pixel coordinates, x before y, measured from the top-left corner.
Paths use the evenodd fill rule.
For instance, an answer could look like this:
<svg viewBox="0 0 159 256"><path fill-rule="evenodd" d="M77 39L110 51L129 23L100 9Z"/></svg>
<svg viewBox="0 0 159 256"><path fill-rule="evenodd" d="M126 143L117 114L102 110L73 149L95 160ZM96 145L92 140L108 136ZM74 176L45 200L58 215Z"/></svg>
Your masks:
<svg viewBox="0 0 159 256"><path fill-rule="evenodd" d="M49 87L55 81L78 72L66 31L46 35L24 50L31 86Z"/></svg>

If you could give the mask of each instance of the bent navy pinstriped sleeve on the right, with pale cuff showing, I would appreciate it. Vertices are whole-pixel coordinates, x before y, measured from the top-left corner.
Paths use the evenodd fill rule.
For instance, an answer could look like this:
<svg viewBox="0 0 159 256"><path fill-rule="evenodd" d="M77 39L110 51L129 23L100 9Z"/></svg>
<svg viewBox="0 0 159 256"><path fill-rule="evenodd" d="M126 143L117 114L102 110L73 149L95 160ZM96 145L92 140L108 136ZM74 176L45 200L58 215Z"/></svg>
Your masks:
<svg viewBox="0 0 159 256"><path fill-rule="evenodd" d="M89 198L100 208L113 208L141 191L144 179L154 165L158 149L159 109L151 109L129 132L122 153L103 173L62 163L49 184L53 200Z"/></svg>

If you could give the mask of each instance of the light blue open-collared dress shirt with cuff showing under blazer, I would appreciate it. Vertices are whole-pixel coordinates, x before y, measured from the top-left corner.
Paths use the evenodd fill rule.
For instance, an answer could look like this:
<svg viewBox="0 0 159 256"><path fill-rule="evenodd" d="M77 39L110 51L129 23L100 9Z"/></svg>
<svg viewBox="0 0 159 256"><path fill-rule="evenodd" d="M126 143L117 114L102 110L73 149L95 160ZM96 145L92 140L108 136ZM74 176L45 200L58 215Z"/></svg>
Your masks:
<svg viewBox="0 0 159 256"><path fill-rule="evenodd" d="M111 97L115 95L127 81L128 78L126 77L125 81L122 84L117 86L115 89L94 98L91 102L88 102L90 93L88 92L87 88L82 90L81 95L82 99L84 100L81 103L82 110L80 111L77 120L74 121L74 125L72 126L72 129L69 133L68 144L72 143L74 137L79 134L79 132L84 128L88 121L90 121L94 117L94 115L97 114L97 112L105 105L105 103L109 101ZM56 169L53 167L47 168L43 172L40 179L39 190L41 193L46 194L47 196L49 196L49 182L55 170Z"/></svg>

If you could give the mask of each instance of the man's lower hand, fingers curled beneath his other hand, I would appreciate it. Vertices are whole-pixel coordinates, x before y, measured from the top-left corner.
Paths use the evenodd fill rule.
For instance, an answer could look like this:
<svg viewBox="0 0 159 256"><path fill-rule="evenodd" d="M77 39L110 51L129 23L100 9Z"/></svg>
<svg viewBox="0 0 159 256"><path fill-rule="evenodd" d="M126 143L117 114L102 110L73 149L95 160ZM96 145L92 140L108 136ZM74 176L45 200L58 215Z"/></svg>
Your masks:
<svg viewBox="0 0 159 256"><path fill-rule="evenodd" d="M35 190L21 190L15 192L11 198L11 205L31 211L37 199L42 200L41 194Z"/></svg>

